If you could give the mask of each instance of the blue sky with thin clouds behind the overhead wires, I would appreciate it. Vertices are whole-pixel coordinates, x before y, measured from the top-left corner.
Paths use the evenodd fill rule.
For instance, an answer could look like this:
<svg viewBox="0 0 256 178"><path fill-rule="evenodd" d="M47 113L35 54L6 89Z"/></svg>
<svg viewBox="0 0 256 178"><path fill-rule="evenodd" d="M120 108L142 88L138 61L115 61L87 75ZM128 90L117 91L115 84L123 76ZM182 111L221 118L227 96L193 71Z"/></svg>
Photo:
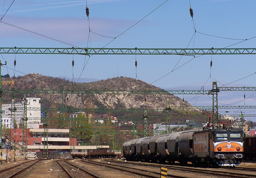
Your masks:
<svg viewBox="0 0 256 178"><path fill-rule="evenodd" d="M5 0L5 4L4 1L0 2L2 16L12 2L13 0ZM164 2L165 0L88 0L90 29L103 36L117 37ZM241 40L216 38L200 33L232 39L256 36L256 1L190 0L190 5L194 11L193 19L197 31L193 38L195 30L189 14L189 0L169 0L106 48L224 48ZM89 21L85 8L86 1L16 0L2 21L74 46L102 48L112 38L90 33L88 41ZM72 47L3 23L0 23L0 34L1 47ZM255 42L256 38L229 48L254 48ZM3 54L3 58L1 60L7 61L7 67L10 68L8 72L13 76L15 55ZM138 61L137 78L152 83L171 72L177 63L176 68L193 57L183 56L180 60L180 56L176 55L93 55L83 70L88 57L85 59L80 55L19 54L16 55L15 75L34 72L72 80L73 74L78 78L82 73L80 81L86 78L101 80L117 76L135 78L135 58ZM71 65L73 59L74 72ZM255 55L204 55L152 84L163 89L200 89L205 84L204 88L210 89L212 81L218 81L218 86L222 86L255 73L255 64ZM2 74L6 73L7 69L2 67ZM211 78L207 80L210 73ZM256 74L227 86L256 86L255 76ZM245 94L250 96L253 92ZM220 105L230 104L243 100L243 95L244 92L223 91L219 93L218 100ZM192 105L212 104L209 96L202 96L197 100L192 99L193 97L184 96ZM235 105L255 105L255 101L255 98L249 98ZM243 112L253 113L251 110Z"/></svg>

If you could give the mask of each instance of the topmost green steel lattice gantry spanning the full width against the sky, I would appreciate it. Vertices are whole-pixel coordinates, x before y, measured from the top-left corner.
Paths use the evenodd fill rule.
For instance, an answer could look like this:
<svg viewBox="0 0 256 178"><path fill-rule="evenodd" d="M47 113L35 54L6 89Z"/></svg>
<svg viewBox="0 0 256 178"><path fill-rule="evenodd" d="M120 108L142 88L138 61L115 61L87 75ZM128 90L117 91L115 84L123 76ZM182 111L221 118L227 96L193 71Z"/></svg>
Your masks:
<svg viewBox="0 0 256 178"><path fill-rule="evenodd" d="M146 54L206 55L256 54L256 48L0 48L0 54Z"/></svg>

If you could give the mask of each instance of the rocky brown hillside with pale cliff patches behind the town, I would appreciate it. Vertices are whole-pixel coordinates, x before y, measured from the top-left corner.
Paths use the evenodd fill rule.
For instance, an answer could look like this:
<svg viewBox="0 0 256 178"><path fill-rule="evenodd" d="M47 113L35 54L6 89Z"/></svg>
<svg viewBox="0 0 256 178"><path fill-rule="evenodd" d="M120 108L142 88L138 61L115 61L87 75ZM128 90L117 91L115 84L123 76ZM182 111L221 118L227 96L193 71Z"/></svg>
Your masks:
<svg viewBox="0 0 256 178"><path fill-rule="evenodd" d="M96 82L75 84L74 82L66 79L31 73L25 76L18 76L13 78L13 80L15 81L15 85L13 87L20 89L61 90L63 86L64 90L163 90L153 85L149 85L144 81L128 77L117 77ZM11 86L3 86L3 88L10 87ZM16 94L16 101L21 101L21 96L22 94ZM29 94L29 96L34 97L35 95ZM61 94L37 94L37 97L42 99L41 103L43 108L61 107ZM169 104L173 106L190 105L187 101L183 101L182 98L176 97L174 95L65 94L63 96L65 108L164 109L166 105L166 99L169 99ZM10 94L3 95L3 102L10 102ZM177 113L177 111L173 112ZM190 112L192 111L189 111L189 113ZM179 111L179 113L184 114L188 112ZM111 114L114 115L114 113ZM131 114L127 113L126 115ZM125 117L125 114L119 113L119 117L120 116ZM184 119L181 119L181 121L184 121Z"/></svg>

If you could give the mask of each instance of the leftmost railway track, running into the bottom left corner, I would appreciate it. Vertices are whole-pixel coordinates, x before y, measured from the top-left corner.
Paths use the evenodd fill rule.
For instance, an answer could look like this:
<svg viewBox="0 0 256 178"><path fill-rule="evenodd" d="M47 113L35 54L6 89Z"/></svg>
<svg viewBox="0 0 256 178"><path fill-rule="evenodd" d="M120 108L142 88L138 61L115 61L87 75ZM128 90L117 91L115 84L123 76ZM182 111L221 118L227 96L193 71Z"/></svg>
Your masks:
<svg viewBox="0 0 256 178"><path fill-rule="evenodd" d="M17 164L10 168L2 169L2 170L0 170L0 177L12 178L12 177L16 176L17 174L19 174L20 172L30 168L38 161L40 161L40 160L30 160L30 161L27 161L24 163Z"/></svg>

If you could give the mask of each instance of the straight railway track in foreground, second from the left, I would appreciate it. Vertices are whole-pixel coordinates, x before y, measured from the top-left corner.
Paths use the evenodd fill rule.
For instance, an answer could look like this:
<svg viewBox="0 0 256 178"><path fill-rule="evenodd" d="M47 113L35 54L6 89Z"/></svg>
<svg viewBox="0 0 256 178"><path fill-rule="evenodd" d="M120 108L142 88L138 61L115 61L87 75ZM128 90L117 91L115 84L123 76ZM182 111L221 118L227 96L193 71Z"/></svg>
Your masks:
<svg viewBox="0 0 256 178"><path fill-rule="evenodd" d="M84 170L83 168L72 164L66 160L57 160L57 163L60 165L60 167L70 176L70 178L75 178L75 177L83 177L85 176L84 172L87 174L86 177L96 177L96 178L101 178L91 172L88 172L87 170ZM70 166L71 165L71 166ZM75 168L75 169L71 169L71 168ZM80 172L80 170L82 170L82 172ZM78 175L79 172L79 175Z"/></svg>

